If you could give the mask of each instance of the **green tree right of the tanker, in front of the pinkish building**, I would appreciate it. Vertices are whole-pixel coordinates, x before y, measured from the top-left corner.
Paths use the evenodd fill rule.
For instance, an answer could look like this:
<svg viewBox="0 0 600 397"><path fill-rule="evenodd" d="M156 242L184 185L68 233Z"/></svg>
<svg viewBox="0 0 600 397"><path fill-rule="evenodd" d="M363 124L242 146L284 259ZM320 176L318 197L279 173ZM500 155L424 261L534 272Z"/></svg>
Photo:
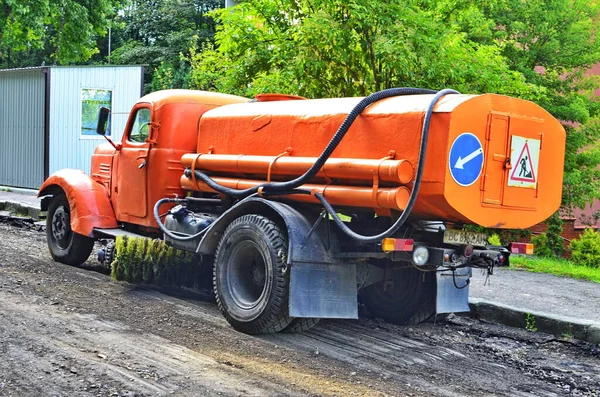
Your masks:
<svg viewBox="0 0 600 397"><path fill-rule="evenodd" d="M470 1L455 2L463 9ZM446 20L461 25L468 37L496 43L511 70L543 89L536 101L564 122L567 152L563 206L570 211L600 199L600 102L593 93L598 77L586 71L600 62L597 28L600 3L589 0L480 1L480 26L453 17L450 1L438 3ZM446 9L444 10L444 7ZM445 11L445 12L444 12ZM460 15L460 14L459 14ZM519 96L519 93L515 93Z"/></svg>

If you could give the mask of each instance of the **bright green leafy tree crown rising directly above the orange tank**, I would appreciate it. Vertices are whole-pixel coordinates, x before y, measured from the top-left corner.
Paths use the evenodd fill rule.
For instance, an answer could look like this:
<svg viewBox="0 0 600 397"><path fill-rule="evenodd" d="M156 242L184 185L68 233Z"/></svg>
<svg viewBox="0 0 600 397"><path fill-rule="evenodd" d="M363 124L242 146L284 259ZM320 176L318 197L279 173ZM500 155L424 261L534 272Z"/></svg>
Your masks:
<svg viewBox="0 0 600 397"><path fill-rule="evenodd" d="M217 46L193 53L191 83L247 96L357 96L410 85L539 95L497 45L469 40L434 11L400 0L246 1L213 13L222 22Z"/></svg>

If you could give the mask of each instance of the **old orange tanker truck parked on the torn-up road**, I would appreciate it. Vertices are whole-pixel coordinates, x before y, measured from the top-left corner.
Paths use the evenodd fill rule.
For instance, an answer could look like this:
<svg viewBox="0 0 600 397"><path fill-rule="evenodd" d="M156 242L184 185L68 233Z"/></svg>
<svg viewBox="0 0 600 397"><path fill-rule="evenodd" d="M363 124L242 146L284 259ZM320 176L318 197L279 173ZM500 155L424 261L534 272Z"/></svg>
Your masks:
<svg viewBox="0 0 600 397"><path fill-rule="evenodd" d="M65 169L40 188L53 258L79 265L95 240L164 238L201 254L219 308L250 334L356 318L359 302L400 324L468 311L471 269L507 256L464 226L545 220L565 151L560 123L531 102L414 88L159 91L108 141L90 176Z"/></svg>

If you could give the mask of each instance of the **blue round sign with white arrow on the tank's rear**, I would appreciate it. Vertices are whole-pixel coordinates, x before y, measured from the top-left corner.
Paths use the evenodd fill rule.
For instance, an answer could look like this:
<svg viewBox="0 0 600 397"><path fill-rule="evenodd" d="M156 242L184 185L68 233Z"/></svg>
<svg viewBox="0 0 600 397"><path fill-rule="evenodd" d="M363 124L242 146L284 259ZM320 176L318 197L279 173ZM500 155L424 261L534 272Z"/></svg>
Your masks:
<svg viewBox="0 0 600 397"><path fill-rule="evenodd" d="M479 139L465 132L456 137L450 147L450 174L461 186L470 186L481 175L483 168L483 146Z"/></svg>

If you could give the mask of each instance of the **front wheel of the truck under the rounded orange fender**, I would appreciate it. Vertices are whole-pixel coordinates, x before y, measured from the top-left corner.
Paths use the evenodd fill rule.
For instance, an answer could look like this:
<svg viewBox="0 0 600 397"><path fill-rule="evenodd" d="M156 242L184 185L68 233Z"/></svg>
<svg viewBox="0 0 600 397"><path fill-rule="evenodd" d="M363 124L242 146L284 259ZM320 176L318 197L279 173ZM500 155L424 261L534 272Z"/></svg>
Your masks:
<svg viewBox="0 0 600 397"><path fill-rule="evenodd" d="M71 230L71 210L64 194L52 197L46 218L46 240L55 261L79 266L94 248L94 239Z"/></svg>

